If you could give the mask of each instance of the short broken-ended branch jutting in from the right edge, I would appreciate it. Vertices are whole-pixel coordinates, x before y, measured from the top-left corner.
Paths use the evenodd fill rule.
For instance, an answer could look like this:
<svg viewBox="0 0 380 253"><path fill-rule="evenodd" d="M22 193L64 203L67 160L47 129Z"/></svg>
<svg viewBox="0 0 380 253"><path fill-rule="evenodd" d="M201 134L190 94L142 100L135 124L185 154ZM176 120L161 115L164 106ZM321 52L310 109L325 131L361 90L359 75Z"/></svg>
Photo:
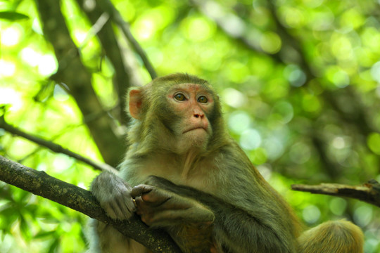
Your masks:
<svg viewBox="0 0 380 253"><path fill-rule="evenodd" d="M321 183L317 186L294 184L291 189L316 194L353 197L380 207L380 184L373 179L362 186L346 186L338 183Z"/></svg>

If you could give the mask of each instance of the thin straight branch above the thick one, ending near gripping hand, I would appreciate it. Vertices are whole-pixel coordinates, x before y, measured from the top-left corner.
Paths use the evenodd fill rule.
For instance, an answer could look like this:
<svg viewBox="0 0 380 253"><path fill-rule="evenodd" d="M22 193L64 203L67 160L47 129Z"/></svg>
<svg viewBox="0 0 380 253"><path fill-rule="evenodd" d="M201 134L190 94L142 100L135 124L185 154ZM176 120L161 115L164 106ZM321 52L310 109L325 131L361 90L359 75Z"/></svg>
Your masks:
<svg viewBox="0 0 380 253"><path fill-rule="evenodd" d="M34 143L37 143L39 145L44 146L45 148L49 148L49 150L56 152L56 153L62 153L65 155L68 155L69 157L73 157L76 160L82 161L86 164L89 164L90 166L94 167L95 169L99 169L101 171L110 171L114 174L118 174L118 170L111 167L108 164L94 162L93 160L90 160L87 157L83 157L82 155L79 155L77 153L74 153L66 148L63 148L61 145L58 145L56 143L53 143L51 141L46 141L43 138L39 138L37 136L32 136L31 134L27 134L24 131L21 131L18 128L15 128L14 126L11 126L10 124L7 124L4 120L4 117L0 117L0 128L8 131L11 134L15 134L17 136L21 136L23 138L26 138L29 141L32 141Z"/></svg>

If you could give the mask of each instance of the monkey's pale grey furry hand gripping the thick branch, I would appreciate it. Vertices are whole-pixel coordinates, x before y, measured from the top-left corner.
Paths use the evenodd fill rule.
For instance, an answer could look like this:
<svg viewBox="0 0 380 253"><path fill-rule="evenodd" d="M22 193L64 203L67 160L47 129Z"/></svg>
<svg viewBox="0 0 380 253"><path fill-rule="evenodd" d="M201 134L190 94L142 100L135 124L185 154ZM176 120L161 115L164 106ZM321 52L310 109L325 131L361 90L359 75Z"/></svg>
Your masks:
<svg viewBox="0 0 380 253"><path fill-rule="evenodd" d="M112 219L129 219L136 210L131 190L127 182L110 172L103 172L91 183L92 194Z"/></svg>

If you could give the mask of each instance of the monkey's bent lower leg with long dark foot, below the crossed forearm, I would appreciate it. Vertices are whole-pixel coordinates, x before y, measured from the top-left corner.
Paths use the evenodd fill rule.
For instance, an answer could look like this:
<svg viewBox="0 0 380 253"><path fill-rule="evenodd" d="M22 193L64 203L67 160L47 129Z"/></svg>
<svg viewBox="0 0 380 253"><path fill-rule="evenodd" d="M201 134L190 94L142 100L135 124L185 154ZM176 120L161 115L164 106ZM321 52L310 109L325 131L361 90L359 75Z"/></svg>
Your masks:
<svg viewBox="0 0 380 253"><path fill-rule="evenodd" d="M153 183L153 182L152 182ZM185 253L216 252L213 212L200 202L157 186L132 189L137 214L153 228L164 228Z"/></svg>

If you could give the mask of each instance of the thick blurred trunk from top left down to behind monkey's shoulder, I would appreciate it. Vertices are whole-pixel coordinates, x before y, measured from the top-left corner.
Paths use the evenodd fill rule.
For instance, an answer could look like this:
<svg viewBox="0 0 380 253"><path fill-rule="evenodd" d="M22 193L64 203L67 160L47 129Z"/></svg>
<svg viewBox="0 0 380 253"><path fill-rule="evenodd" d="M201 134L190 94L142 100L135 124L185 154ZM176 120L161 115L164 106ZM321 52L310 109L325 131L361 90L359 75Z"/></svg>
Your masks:
<svg viewBox="0 0 380 253"><path fill-rule="evenodd" d="M58 71L51 79L64 83L70 89L78 108L84 117L94 112L103 112L94 89L91 86L91 73L83 65L77 46L70 37L61 5L57 1L37 0L44 36L51 42L58 60ZM112 166L120 163L125 150L122 138L111 130L113 119L108 114L87 123L91 136L99 148L103 159Z"/></svg>

